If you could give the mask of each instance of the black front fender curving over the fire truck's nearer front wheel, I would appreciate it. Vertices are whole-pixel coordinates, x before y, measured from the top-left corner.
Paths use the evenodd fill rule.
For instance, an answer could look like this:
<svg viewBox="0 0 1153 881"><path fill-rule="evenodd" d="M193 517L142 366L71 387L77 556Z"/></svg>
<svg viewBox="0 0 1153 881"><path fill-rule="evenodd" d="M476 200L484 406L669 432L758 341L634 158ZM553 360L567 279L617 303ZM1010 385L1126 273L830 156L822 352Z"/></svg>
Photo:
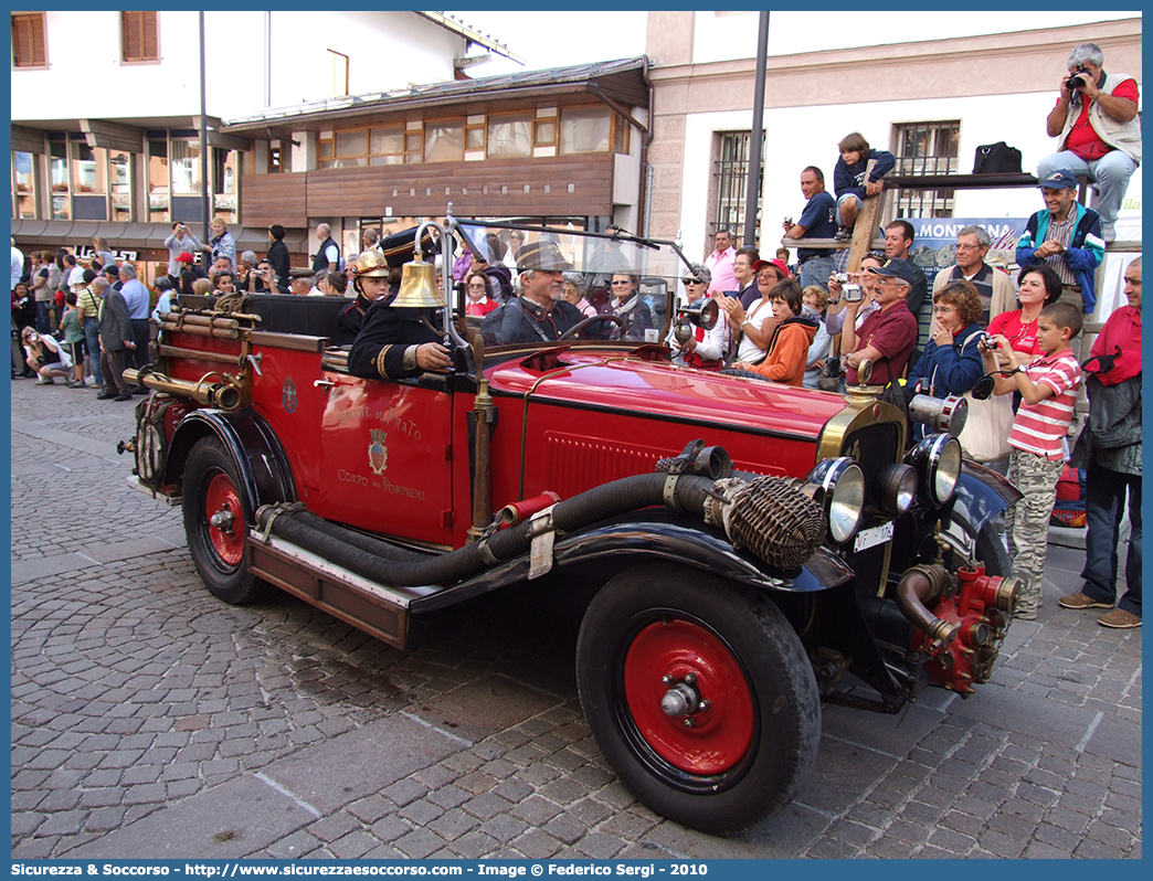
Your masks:
<svg viewBox="0 0 1153 881"><path fill-rule="evenodd" d="M627 556L626 556L627 555ZM673 563L721 575L754 589L802 594L828 590L852 580L853 572L824 548L799 570L774 570L747 551L737 550L724 534L685 514L650 509L558 535L553 571L612 564L617 570L641 563ZM498 590L528 578L527 556L507 560L451 588L414 600L414 615L443 609Z"/></svg>

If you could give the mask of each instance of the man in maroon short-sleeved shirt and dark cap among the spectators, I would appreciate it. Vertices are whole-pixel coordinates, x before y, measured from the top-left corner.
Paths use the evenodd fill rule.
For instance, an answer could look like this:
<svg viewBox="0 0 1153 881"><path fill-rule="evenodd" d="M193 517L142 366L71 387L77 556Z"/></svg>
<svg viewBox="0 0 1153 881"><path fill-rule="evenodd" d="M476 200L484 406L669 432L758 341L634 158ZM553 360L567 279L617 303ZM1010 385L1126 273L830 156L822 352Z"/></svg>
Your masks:
<svg viewBox="0 0 1153 881"><path fill-rule="evenodd" d="M917 318L909 311L906 299L913 287L915 268L909 261L890 259L880 269L869 268L879 276L874 300L881 308L868 316L857 330L857 309L860 300L846 301L845 325L841 332L841 351L845 366L845 382L857 385L857 369L862 361L873 362L867 385L888 385L899 379L909 364L909 356L917 345Z"/></svg>

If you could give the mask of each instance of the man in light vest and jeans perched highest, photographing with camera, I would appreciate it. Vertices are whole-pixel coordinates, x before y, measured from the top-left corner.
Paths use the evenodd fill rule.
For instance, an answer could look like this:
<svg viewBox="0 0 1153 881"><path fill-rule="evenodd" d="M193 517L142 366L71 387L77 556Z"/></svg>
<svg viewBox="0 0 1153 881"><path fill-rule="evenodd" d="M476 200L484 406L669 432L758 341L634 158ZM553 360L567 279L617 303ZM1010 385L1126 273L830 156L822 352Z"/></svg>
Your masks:
<svg viewBox="0 0 1153 881"><path fill-rule="evenodd" d="M1141 127L1137 82L1128 74L1107 74L1102 65L1105 53L1093 43L1069 53L1069 76L1062 77L1057 104L1045 121L1049 137L1061 138L1060 152L1041 159L1037 176L1068 170L1094 181L1102 238L1111 242L1121 199L1141 161Z"/></svg>

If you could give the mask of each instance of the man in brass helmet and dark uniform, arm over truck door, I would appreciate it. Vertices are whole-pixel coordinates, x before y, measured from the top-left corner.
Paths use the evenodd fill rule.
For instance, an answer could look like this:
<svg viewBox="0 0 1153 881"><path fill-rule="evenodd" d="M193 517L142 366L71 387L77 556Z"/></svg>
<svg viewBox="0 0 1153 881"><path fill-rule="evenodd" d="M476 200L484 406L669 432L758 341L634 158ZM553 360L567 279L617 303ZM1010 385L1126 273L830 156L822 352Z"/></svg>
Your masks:
<svg viewBox="0 0 1153 881"><path fill-rule="evenodd" d="M375 299L362 317L363 326L355 334L348 353L348 371L366 379L399 379L417 376L425 370L446 370L452 366L452 355L442 342L442 334L435 330L439 316L432 309L393 307L397 291L390 289L390 271L399 271L405 261L415 256L413 249L416 228L391 235L382 242L379 250L366 251L357 258L356 279L353 283L359 296L368 299L371 291ZM407 250L402 239L407 236ZM431 246L431 236L422 239L422 250ZM393 272L394 274L394 272ZM399 285L399 279L397 279ZM355 303L354 303L355 306ZM341 313L341 319L348 314ZM348 316L349 321L352 316ZM338 325L338 337L339 337ZM345 345L339 339L337 345Z"/></svg>

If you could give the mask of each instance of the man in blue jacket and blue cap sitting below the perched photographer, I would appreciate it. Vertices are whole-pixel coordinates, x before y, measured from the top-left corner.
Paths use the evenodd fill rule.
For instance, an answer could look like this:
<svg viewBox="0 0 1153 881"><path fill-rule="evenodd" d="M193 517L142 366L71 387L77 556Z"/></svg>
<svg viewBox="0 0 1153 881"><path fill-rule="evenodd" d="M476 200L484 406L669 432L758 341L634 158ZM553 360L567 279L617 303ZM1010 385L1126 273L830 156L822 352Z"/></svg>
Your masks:
<svg viewBox="0 0 1153 881"><path fill-rule="evenodd" d="M1028 218L1017 265L1047 263L1061 278L1060 299L1090 315L1097 304L1093 274L1105 258L1101 216L1077 201L1077 179L1069 171L1052 172L1038 186L1045 210Z"/></svg>

